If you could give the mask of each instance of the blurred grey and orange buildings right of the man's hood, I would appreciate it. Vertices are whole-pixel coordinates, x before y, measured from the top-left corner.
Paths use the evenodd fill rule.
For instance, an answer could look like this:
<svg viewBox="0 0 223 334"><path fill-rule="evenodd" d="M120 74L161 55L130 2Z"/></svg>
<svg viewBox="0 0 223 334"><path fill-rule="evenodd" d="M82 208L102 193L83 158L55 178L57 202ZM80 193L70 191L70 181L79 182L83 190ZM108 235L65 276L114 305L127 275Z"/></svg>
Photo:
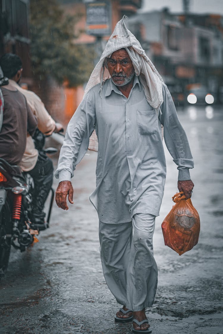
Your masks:
<svg viewBox="0 0 223 334"><path fill-rule="evenodd" d="M185 100L191 85L217 92L223 86L223 17L220 15L172 14L162 11L133 15L129 29L141 42L176 104Z"/></svg>

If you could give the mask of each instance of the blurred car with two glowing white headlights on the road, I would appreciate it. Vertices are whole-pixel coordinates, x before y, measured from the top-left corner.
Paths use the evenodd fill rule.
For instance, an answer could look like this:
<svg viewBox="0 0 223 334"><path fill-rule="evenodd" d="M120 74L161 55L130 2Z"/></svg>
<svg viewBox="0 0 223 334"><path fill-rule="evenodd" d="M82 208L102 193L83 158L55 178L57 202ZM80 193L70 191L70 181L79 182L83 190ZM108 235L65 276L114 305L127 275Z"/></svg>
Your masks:
<svg viewBox="0 0 223 334"><path fill-rule="evenodd" d="M186 97L190 104L213 104L217 96L207 86L192 83L186 86Z"/></svg>

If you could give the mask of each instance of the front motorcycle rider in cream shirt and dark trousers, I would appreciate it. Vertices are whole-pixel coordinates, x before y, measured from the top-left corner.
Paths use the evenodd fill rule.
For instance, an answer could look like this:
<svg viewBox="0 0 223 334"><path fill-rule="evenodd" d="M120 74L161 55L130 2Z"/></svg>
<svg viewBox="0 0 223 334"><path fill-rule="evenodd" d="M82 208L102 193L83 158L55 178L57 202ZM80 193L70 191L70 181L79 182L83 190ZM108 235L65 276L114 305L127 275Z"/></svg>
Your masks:
<svg viewBox="0 0 223 334"><path fill-rule="evenodd" d="M9 78L10 85L25 96L27 105L37 119L37 128L44 135L61 131L62 125L54 122L40 98L35 93L24 90L18 85L22 74L20 57L16 54L6 53L0 59L0 66L4 75ZM22 171L28 172L34 180L32 220L40 230L43 230L47 227L43 208L52 185L53 165L51 159L38 152L29 134L26 139L25 152L19 165Z"/></svg>

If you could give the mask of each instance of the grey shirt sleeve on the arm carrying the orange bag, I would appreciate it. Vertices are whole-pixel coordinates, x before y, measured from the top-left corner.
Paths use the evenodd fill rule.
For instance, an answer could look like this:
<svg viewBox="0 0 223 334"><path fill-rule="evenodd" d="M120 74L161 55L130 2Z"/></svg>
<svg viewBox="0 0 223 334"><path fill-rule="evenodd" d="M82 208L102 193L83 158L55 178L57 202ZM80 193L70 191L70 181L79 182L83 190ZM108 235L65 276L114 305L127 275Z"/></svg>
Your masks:
<svg viewBox="0 0 223 334"><path fill-rule="evenodd" d="M173 161L178 165L178 180L190 180L189 168L194 167L187 135L178 119L176 108L168 88L163 85L163 103L159 119L164 129L164 140Z"/></svg>

